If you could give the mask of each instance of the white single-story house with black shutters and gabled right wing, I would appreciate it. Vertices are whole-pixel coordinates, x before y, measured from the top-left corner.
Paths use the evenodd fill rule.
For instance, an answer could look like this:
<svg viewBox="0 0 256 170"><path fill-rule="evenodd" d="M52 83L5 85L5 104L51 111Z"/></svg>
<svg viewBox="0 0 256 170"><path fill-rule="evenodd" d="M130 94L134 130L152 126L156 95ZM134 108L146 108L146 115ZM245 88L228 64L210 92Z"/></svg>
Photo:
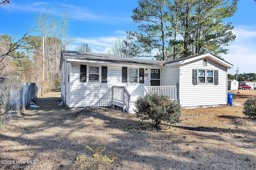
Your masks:
<svg viewBox="0 0 256 170"><path fill-rule="evenodd" d="M119 106L128 113L146 93L168 95L183 108L226 105L232 67L211 53L158 61L62 51L61 97L71 109Z"/></svg>

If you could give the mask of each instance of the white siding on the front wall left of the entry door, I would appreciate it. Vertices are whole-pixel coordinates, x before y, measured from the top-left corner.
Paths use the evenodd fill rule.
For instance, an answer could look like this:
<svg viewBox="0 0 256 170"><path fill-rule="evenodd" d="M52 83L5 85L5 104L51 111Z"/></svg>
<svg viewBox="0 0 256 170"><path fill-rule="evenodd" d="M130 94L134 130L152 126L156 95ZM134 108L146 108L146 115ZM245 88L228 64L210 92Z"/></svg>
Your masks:
<svg viewBox="0 0 256 170"><path fill-rule="evenodd" d="M72 87L69 107L85 107L88 105L111 106L113 99L113 86L126 86L131 94L131 102L136 101L140 96L144 96L144 86L149 85L149 77L144 77L144 83L122 83L123 65L102 65L108 67L107 83L98 82L80 82L80 64L72 64ZM89 67L90 64L87 64ZM139 69L136 67L134 69ZM148 73L149 69L144 69ZM149 73L148 73L149 74ZM130 111L132 111L131 106Z"/></svg>

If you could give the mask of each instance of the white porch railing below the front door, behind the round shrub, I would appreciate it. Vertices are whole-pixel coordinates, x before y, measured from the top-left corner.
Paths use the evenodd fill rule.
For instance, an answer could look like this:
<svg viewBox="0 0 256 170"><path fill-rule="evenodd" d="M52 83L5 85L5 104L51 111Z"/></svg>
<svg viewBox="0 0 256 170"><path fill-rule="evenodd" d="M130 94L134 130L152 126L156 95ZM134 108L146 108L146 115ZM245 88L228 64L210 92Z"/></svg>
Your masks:
<svg viewBox="0 0 256 170"><path fill-rule="evenodd" d="M160 95L169 96L171 100L178 100L177 86L145 86L145 95L147 93L158 93Z"/></svg>

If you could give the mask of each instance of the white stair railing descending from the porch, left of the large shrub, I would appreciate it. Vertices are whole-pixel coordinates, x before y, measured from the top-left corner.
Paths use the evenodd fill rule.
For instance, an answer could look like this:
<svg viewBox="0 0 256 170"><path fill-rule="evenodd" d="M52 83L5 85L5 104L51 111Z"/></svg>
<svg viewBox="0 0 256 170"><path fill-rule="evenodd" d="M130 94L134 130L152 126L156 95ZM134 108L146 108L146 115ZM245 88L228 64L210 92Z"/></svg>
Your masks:
<svg viewBox="0 0 256 170"><path fill-rule="evenodd" d="M113 86L112 105L122 107L123 111L130 112L131 95L125 86Z"/></svg>

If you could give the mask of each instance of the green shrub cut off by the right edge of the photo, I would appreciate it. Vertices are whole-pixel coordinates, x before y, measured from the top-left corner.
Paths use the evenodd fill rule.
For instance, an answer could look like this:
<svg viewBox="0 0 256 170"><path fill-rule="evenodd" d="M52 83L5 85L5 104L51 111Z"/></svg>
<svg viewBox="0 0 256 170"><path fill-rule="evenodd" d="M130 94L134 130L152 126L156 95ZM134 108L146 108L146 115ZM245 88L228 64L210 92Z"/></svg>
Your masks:
<svg viewBox="0 0 256 170"><path fill-rule="evenodd" d="M256 119L256 97L249 98L244 102L243 113L252 119Z"/></svg>

